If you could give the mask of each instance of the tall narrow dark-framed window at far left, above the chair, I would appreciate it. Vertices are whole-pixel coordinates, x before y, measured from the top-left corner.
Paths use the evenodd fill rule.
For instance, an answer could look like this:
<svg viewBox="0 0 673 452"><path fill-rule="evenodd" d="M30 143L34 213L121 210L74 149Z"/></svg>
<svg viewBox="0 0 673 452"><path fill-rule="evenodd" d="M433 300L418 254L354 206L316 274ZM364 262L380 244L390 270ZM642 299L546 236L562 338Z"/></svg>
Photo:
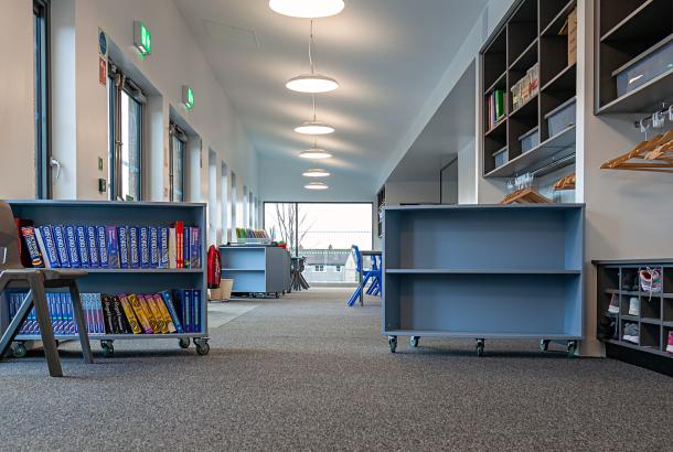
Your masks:
<svg viewBox="0 0 673 452"><path fill-rule="evenodd" d="M33 1L35 61L35 194L51 197L49 103L49 0Z"/></svg>

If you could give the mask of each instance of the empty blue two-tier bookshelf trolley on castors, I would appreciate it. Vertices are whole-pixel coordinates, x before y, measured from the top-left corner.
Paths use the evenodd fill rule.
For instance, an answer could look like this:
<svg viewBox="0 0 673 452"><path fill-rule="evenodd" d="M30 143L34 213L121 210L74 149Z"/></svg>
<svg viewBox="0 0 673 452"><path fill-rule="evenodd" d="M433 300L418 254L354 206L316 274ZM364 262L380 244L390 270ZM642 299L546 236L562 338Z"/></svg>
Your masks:
<svg viewBox="0 0 673 452"><path fill-rule="evenodd" d="M583 340L584 206L387 206L382 333L398 336Z"/></svg>

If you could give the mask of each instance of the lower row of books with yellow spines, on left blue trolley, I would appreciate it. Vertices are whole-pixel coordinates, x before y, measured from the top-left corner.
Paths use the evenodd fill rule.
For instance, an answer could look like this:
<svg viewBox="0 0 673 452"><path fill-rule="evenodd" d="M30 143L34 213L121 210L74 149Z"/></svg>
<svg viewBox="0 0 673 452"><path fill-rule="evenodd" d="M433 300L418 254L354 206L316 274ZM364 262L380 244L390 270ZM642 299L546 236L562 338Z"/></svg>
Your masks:
<svg viewBox="0 0 673 452"><path fill-rule="evenodd" d="M19 311L28 292L9 293L10 319ZM89 336L105 334L201 333L201 291L177 289L149 294L82 293L84 323ZM54 334L77 335L70 293L50 292L46 301ZM19 334L39 335L35 309Z"/></svg>

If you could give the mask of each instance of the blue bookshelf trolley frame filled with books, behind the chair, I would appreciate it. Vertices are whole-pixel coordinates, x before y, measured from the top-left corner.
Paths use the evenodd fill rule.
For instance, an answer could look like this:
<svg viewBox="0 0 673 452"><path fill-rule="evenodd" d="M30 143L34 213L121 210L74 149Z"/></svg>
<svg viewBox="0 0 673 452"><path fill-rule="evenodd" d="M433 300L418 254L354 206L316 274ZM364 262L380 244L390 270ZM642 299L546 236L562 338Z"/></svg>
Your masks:
<svg viewBox="0 0 673 452"><path fill-rule="evenodd" d="M177 340L188 348L193 342L199 355L210 352L207 343L207 278L205 269L205 204L146 203L146 202L89 202L89 201L9 201L14 217L31 219L35 225L115 225L115 226L169 226L182 220L185 226L201 229L201 268L92 268L79 281L82 293L156 293L171 289L192 289L201 292L199 310L200 331L171 334L89 334L100 341L106 356L114 354L114 342L126 340ZM8 303L0 310L0 331L7 329ZM55 335L57 341L75 338L75 335ZM25 353L24 343L39 341L40 335L18 335L14 353Z"/></svg>

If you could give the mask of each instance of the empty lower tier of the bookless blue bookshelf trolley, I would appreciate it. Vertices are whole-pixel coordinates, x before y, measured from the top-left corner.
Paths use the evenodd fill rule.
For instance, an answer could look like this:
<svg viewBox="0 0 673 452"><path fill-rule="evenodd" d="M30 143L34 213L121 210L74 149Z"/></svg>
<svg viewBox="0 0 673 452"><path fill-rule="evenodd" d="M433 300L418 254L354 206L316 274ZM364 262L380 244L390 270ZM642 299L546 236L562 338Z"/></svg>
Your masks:
<svg viewBox="0 0 673 452"><path fill-rule="evenodd" d="M581 275L386 273L383 334L581 340Z"/></svg>

